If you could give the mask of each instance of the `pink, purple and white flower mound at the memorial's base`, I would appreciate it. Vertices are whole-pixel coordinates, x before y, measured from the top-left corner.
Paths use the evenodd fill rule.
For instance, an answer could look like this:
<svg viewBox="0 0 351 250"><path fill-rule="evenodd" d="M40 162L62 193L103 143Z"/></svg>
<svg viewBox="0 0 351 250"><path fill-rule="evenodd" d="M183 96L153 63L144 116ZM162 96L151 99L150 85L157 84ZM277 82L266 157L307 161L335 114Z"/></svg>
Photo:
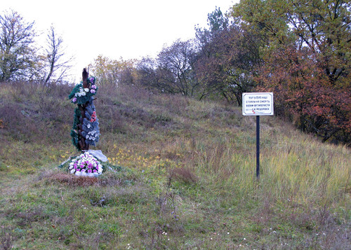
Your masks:
<svg viewBox="0 0 351 250"><path fill-rule="evenodd" d="M93 155L82 153L69 163L69 172L78 176L99 176L102 174L103 167Z"/></svg>

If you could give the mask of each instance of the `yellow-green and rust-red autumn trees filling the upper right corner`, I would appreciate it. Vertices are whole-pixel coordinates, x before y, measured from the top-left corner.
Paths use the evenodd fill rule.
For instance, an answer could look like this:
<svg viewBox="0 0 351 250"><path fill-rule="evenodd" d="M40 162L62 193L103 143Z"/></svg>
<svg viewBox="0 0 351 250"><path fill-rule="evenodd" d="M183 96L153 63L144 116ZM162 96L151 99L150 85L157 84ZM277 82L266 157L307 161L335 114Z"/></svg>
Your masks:
<svg viewBox="0 0 351 250"><path fill-rule="evenodd" d="M256 90L323 141L351 142L350 1L241 0L232 17L260 37Z"/></svg>

